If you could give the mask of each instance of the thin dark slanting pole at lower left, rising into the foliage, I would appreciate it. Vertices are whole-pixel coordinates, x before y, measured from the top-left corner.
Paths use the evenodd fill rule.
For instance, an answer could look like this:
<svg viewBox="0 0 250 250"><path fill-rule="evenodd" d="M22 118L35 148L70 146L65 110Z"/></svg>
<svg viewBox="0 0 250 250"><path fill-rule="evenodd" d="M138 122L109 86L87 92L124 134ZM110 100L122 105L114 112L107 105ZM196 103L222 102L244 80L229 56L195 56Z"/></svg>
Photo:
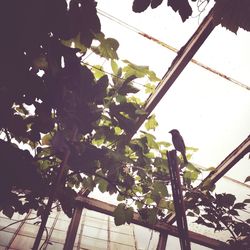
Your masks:
<svg viewBox="0 0 250 250"><path fill-rule="evenodd" d="M76 139L77 133L78 133L78 128L75 127L73 130L72 141L74 141ZM38 250L38 247L39 247L39 244L40 244L40 241L41 241L41 238L42 238L43 232L45 230L46 223L47 223L50 211L51 211L51 207L52 207L54 198L56 196L56 192L58 190L58 187L61 184L64 173L67 171L67 168L68 168L67 163L68 163L69 156L70 156L70 149L67 147L67 149L65 149L64 159L62 161L60 171L59 171L58 176L56 178L54 187L52 188L51 193L49 195L48 203L47 203L47 206L44 210L44 214L42 215L42 222L41 222L40 228L38 230L38 233L37 233L37 236L36 236L33 248L32 248L33 250Z"/></svg>

